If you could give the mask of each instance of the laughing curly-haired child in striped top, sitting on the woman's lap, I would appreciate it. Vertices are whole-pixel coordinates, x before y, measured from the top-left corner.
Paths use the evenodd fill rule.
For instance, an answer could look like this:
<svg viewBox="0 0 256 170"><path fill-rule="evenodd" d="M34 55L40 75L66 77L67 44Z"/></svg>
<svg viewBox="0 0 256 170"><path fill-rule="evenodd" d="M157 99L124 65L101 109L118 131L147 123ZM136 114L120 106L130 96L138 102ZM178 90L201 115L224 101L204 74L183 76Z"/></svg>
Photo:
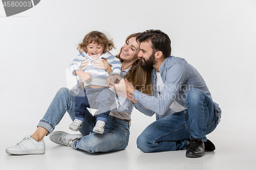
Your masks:
<svg viewBox="0 0 256 170"><path fill-rule="evenodd" d="M103 33L92 31L84 36L77 50L80 54L70 64L69 69L73 76L81 77L83 89L75 98L75 120L69 129L78 131L82 127L87 108L98 109L98 117L93 132L102 134L110 114L111 106L115 102L114 92L108 87L109 74L104 69L95 68L92 61L106 59L112 67L112 74L120 76L121 62L110 52L114 47L113 41ZM108 51L107 51L108 50ZM79 66L83 60L88 60L88 67L82 71ZM80 82L81 83L81 82Z"/></svg>

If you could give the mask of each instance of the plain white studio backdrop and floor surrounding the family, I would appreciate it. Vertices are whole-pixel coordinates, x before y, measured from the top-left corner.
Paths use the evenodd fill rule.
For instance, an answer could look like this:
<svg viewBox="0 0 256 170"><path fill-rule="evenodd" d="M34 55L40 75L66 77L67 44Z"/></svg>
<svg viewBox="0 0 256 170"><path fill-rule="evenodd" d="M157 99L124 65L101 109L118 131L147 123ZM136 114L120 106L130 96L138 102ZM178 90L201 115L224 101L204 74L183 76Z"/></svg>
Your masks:
<svg viewBox="0 0 256 170"><path fill-rule="evenodd" d="M6 17L0 5L0 166L6 169L255 169L256 1L41 1ZM45 155L10 156L5 148L32 134L60 87L76 45L93 30L125 38L160 29L172 40L172 55L185 58L205 79L222 120L207 137L216 151L188 159L185 151L144 154L136 138L155 120L136 109L124 151L88 154L57 146L45 137ZM56 130L68 129L66 115ZM180 166L182 164L182 166ZM190 165L190 166L189 166ZM1 168L2 169L2 168Z"/></svg>

